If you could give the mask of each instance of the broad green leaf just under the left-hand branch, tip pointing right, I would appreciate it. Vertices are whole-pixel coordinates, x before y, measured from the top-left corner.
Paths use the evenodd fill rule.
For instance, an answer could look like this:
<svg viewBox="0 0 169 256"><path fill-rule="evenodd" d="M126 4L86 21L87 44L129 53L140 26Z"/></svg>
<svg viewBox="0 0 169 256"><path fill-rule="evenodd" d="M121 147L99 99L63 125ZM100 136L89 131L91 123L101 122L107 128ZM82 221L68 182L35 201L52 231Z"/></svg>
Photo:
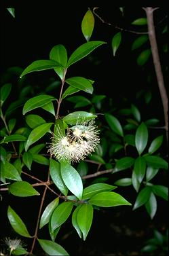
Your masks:
<svg viewBox="0 0 169 256"><path fill-rule="evenodd" d="M31 184L26 181L16 181L9 185L10 193L14 196L39 196L38 191L36 191Z"/></svg>

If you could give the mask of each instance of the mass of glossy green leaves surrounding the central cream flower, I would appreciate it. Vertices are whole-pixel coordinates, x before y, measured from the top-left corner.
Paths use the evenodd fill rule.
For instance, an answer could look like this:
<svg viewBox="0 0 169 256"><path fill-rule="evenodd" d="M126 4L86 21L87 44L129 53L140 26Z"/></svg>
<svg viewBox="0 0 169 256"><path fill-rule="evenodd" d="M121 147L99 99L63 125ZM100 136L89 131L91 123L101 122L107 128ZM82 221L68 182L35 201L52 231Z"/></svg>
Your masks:
<svg viewBox="0 0 169 256"><path fill-rule="evenodd" d="M140 18L132 24L140 26L147 22ZM22 71L13 68L20 76L18 98L12 96L12 81L1 86L1 185L7 185L9 194L20 198L41 196L34 234L24 223L26 217L22 220L15 208L10 205L7 208L14 231L33 239L29 253L33 253L37 240L48 255L69 255L56 242L60 228L71 219L79 238L86 240L95 211L101 207L132 205L113 191L118 187L125 191L125 187L131 186L136 194L132 210L145 206L151 219L157 212L158 198L168 200L168 188L155 181L156 175L168 169L162 156L163 134L151 136L151 129L159 120L153 117L145 120L138 106L124 99L122 107L112 105L111 100L105 104L107 96L93 95L92 77L68 76L69 67L98 47L104 50L105 41L90 41L93 29L94 16L89 9L81 22L86 43L69 57L64 45L54 45L48 60L35 60ZM146 41L147 37L136 39L132 50ZM113 56L120 43L121 32L118 32L111 41ZM142 52L138 65L145 65L149 55L149 51ZM41 75L41 71L48 73L49 69L57 79L49 80L35 94L28 82L30 73L38 71ZM90 173L92 164L96 166L94 173ZM34 174L35 168L40 170L41 166L45 169L45 181ZM113 183L98 178L105 173L111 175ZM116 179L119 173L121 178ZM94 178L92 183L89 178ZM39 186L44 186L42 193ZM45 201L47 191L54 195L50 202ZM41 238L41 229L47 225L50 240ZM19 243L18 246L10 248L10 255L27 253Z"/></svg>

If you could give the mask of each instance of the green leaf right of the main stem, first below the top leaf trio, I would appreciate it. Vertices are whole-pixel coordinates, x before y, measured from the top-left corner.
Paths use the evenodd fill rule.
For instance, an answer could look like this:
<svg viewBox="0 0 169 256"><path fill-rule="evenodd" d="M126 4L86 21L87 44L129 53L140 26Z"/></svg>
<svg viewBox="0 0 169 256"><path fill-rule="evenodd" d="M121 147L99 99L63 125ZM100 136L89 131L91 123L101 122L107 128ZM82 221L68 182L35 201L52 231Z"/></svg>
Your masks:
<svg viewBox="0 0 169 256"><path fill-rule="evenodd" d="M85 77L70 77L65 80L69 86L75 87L78 90L83 90L84 92L88 92L92 94L93 86L88 79Z"/></svg>

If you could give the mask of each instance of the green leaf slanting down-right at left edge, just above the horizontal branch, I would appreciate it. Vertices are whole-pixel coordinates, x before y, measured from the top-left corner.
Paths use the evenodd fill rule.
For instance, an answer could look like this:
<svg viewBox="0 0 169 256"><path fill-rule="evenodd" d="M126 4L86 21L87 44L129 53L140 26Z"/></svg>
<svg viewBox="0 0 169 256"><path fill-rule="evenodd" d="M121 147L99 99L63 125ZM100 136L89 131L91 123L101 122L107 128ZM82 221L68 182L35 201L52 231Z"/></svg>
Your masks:
<svg viewBox="0 0 169 256"><path fill-rule="evenodd" d="M13 181L22 181L18 170L15 168L13 164L10 164L10 162L6 161L4 164L4 169L6 179L12 179Z"/></svg>

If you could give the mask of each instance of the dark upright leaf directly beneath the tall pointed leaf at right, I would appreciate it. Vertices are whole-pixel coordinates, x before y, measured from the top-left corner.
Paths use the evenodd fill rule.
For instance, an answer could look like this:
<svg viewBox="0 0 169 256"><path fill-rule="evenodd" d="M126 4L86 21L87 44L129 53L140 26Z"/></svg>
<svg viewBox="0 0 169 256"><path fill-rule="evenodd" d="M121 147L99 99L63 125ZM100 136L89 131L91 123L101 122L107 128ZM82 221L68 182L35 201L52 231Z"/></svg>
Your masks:
<svg viewBox="0 0 169 256"><path fill-rule="evenodd" d="M141 156L136 158L134 162L134 172L136 174L136 179L141 183L145 177L146 162L145 159Z"/></svg>

